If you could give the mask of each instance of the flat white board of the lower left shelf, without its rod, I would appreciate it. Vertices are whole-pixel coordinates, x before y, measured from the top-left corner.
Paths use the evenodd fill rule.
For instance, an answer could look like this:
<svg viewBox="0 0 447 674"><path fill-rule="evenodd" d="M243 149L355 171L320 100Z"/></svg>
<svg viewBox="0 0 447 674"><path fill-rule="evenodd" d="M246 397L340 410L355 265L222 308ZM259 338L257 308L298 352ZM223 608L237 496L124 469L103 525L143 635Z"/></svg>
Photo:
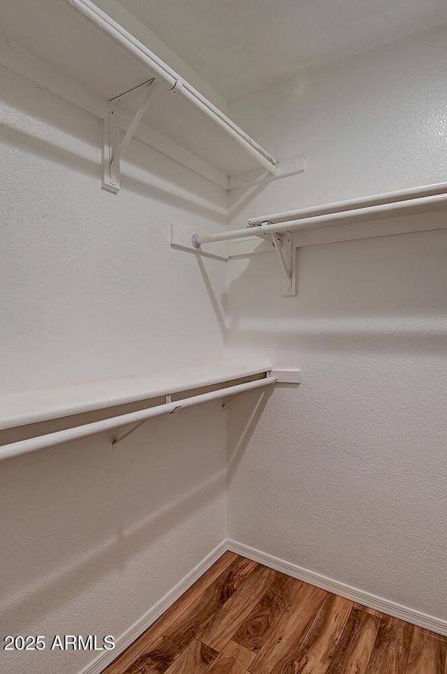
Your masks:
<svg viewBox="0 0 447 674"><path fill-rule="evenodd" d="M234 382L272 369L267 363L218 364L166 371L140 378L105 380L71 387L0 396L0 429Z"/></svg>

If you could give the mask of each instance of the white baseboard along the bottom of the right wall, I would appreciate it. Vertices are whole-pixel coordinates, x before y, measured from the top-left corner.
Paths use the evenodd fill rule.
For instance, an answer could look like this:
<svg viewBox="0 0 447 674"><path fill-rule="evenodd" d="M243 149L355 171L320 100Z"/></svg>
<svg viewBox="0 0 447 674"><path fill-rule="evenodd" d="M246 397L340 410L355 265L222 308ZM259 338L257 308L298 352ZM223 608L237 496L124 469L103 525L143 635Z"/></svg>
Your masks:
<svg viewBox="0 0 447 674"><path fill-rule="evenodd" d="M400 618L413 625L418 625L424 629L430 629L433 632L447 636L447 620L421 613L413 608L402 606L394 601L389 601L383 597L370 594L357 587L351 587L351 585L346 585L338 580L327 578L314 571L309 571L307 568L296 566L296 564L291 564L288 561L284 561L284 559L278 559L271 554L256 550L254 547L249 547L249 545L237 543L235 540L227 541L227 549L242 555L242 557L248 557L248 559L257 561L258 564L273 568L274 571L286 573L287 575L293 576L293 578L308 582L310 585L316 585L316 587L321 587L333 594L339 594L340 596L346 597L346 599L351 599L352 601L356 601L369 608L375 608L387 615Z"/></svg>

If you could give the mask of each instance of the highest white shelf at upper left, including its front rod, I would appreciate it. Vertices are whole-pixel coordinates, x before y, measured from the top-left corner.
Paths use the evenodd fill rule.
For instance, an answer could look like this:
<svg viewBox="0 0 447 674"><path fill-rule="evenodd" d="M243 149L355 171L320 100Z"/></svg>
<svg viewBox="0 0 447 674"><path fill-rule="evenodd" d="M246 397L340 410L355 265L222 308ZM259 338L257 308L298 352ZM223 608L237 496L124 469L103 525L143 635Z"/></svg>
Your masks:
<svg viewBox="0 0 447 674"><path fill-rule="evenodd" d="M226 175L276 171L268 152L90 0L5 3L0 31L106 101L156 78L143 122ZM139 92L123 101L132 111Z"/></svg>

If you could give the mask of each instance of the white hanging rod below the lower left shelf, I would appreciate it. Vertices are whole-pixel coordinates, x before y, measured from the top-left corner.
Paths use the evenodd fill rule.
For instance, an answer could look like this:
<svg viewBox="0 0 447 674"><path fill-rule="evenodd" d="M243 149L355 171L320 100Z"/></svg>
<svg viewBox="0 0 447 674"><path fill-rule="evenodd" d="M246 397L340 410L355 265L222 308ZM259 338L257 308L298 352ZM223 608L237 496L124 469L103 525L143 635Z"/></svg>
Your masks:
<svg viewBox="0 0 447 674"><path fill-rule="evenodd" d="M43 436L36 438L27 438L27 440L19 440L16 443L9 443L8 445L0 446L0 460L10 459L10 457L17 457L20 454L27 454L28 452L35 452L42 450L44 447L52 447L60 443L66 443L70 440L78 440L94 435L95 433L102 433L110 429L119 428L119 426L126 426L127 424L135 424L143 420L150 419L162 414L172 414L179 408L192 407L199 403L206 403L211 400L216 400L226 396L235 396L241 393L250 391L251 389L259 389L264 386L270 386L277 382L276 377L268 376L263 379L256 379L252 382L244 384L237 384L235 386L228 386L223 389L217 389L210 393L199 394L198 396L191 396L191 398L184 398L176 400L171 403L164 403L146 410L138 410L137 412L130 412L119 415L117 417L110 417L98 422L90 424L83 424L82 426L75 426L74 428L64 429L63 431L55 431L54 433L46 433Z"/></svg>

